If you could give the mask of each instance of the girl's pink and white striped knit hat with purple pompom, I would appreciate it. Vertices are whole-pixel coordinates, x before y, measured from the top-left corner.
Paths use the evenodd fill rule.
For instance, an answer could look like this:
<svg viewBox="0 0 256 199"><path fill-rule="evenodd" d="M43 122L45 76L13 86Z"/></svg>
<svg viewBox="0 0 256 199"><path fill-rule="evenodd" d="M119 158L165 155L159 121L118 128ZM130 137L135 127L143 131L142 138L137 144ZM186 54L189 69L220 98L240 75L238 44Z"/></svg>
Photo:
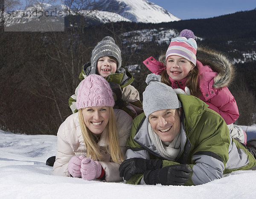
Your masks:
<svg viewBox="0 0 256 199"><path fill-rule="evenodd" d="M191 30L184 29L180 32L180 37L175 37L166 51L166 61L171 55L177 55L191 61L196 65L196 49L197 44L195 35Z"/></svg>

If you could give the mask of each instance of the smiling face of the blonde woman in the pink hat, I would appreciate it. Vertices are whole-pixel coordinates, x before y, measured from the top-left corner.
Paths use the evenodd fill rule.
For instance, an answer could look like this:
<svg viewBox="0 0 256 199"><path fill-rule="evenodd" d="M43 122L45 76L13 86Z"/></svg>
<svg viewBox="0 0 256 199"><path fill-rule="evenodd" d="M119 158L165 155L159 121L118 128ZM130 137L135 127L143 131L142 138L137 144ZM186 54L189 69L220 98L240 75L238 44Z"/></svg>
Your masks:
<svg viewBox="0 0 256 199"><path fill-rule="evenodd" d="M108 125L109 107L87 107L82 110L84 123L94 134L100 134Z"/></svg>

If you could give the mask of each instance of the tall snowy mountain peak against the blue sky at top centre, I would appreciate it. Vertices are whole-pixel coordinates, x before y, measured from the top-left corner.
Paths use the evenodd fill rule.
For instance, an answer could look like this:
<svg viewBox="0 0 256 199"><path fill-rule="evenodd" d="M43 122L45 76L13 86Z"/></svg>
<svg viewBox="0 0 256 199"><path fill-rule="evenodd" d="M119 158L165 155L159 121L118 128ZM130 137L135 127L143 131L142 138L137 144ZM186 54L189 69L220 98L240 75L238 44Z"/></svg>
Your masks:
<svg viewBox="0 0 256 199"><path fill-rule="evenodd" d="M147 0L99 0L90 9L114 12L133 22L161 23L180 20Z"/></svg>

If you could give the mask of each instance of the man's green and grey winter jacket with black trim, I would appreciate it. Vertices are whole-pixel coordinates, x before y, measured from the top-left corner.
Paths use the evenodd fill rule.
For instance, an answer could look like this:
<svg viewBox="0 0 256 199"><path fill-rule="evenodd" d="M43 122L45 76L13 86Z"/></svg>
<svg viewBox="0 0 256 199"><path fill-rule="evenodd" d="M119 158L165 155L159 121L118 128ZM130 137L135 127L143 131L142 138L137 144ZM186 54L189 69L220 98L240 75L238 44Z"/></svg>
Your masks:
<svg viewBox="0 0 256 199"><path fill-rule="evenodd" d="M224 119L207 104L192 95L177 95L182 103L181 150L175 161L160 156L148 135L148 118L144 113L134 119L127 141L125 159L162 159L163 167L188 164L191 176L185 185L201 185L235 170L248 170L256 165L252 154L230 137ZM131 177L126 183L140 184L143 174ZM143 184L143 183L142 183Z"/></svg>

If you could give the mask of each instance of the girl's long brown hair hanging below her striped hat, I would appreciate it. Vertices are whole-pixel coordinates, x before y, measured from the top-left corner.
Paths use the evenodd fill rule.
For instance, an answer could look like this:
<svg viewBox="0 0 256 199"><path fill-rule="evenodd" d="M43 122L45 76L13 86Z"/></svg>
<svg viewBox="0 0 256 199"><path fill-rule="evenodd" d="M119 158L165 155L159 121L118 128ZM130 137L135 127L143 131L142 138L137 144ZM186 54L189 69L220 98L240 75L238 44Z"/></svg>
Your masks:
<svg viewBox="0 0 256 199"><path fill-rule="evenodd" d="M191 62L192 66L194 66L194 64ZM161 82L163 82L164 84L167 84L168 86L172 87L172 83L169 79L169 75L167 74L166 69L160 74L161 75ZM198 97L201 92L198 88L198 75L199 75L199 70L198 67L195 66L187 75L187 81L186 81L186 87L189 88L191 95L194 95L196 97Z"/></svg>

